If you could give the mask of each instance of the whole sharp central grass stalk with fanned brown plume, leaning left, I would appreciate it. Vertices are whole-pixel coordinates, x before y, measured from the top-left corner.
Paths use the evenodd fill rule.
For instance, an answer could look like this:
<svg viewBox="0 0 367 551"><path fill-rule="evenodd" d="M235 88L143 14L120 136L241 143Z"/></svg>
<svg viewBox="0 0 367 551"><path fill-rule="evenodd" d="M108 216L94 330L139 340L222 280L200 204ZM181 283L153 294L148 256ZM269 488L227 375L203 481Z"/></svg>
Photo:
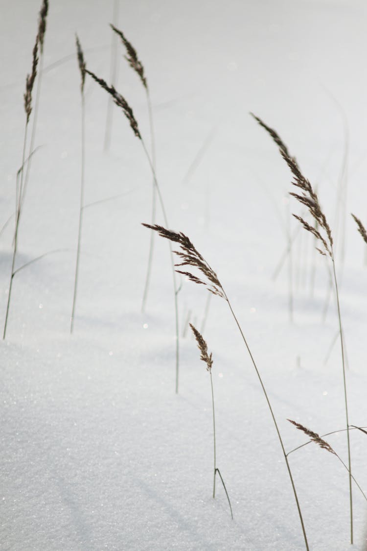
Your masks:
<svg viewBox="0 0 367 551"><path fill-rule="evenodd" d="M143 223L143 226L145 226L146 228L157 231L158 234L161 237L165 237L165 239L168 239L169 241L178 243L181 250L180 251L174 251L174 253L176 253L176 255L179 256L179 258L180 258L180 260L182 260L182 262L180 262L178 264L175 264L175 266L177 266L177 267L180 267L180 266L193 266L194 268L197 268L199 270L199 272L201 273L201 277L203 277L203 279L201 279L198 276L195 276L195 274L193 274L191 272L184 272L184 271L181 271L181 270L177 270L178 273L183 274L184 276L187 276L187 278L190 281L194 282L194 283L197 283L199 285L204 285L204 287L206 287L206 289L209 290L210 293L212 293L213 295L220 296L222 299L224 299L227 302L229 310L231 310L234 321L235 321L235 323L236 323L236 325L239 329L242 340L245 344L245 347L248 351L251 362L252 362L252 364L254 366L254 369L256 371L256 375L258 376L260 386L262 388L262 392L264 393L267 406L269 407L269 410L270 410L271 418L273 420L273 424L275 426L275 430L276 430L276 433L277 433L277 436L278 436L278 439L279 439L279 442L280 442L280 445L281 445L284 461L286 462L289 479L291 480L294 499L295 499L295 503L297 505L298 515L299 515L299 520L300 520L300 523L301 523L301 526L302 526L302 532L303 532L305 547L306 547L307 550L309 550L309 545L308 545L305 526L304 526L304 522L303 522L302 512L301 512L299 501L298 501L297 490L295 489L294 480L293 480L292 472L291 472L291 467L289 466L286 450L284 448L282 436L280 434L280 430L278 428L278 424L276 422L276 418L275 418L273 409L271 407L270 399L269 399L269 396L267 395L265 385L264 385L264 382L262 381L258 366L255 363L254 356L251 353L250 347L249 347L248 342L247 342L247 340L244 336L242 328L240 327L239 322L237 320L237 317L235 316L234 311L232 309L231 302L229 302L228 296L227 296L226 292L224 291L224 289L223 289L223 287L220 283L220 280L217 277L217 274L215 273L215 271L213 271L213 269L210 267L210 265L206 262L205 258L202 255L200 255L199 251L197 251L195 249L193 243L190 241L190 239L187 235L183 234L182 232L177 233L176 231L168 230L168 229L163 228L162 226L159 226L157 224L152 226L150 224L144 224Z"/></svg>

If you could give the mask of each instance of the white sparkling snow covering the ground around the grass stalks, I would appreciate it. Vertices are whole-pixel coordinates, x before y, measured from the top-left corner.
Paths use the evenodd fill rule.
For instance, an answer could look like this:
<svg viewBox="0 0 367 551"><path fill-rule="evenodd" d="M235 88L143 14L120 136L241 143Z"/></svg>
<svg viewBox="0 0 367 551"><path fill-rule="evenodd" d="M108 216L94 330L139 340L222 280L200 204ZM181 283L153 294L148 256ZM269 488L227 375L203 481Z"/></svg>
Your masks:
<svg viewBox="0 0 367 551"><path fill-rule="evenodd" d="M141 314L151 174L116 108L103 152L107 96L86 81L86 197L75 329L69 334L80 189L80 75L109 79L112 2L51 0L36 145L19 235L6 341L1 343L1 549L12 551L304 549L281 448L226 303L213 298L217 465L212 499L210 380L185 320L199 329L207 291L179 293L180 381L167 243L155 240ZM21 164L25 77L40 2L1 2L2 224ZM249 116L276 128L319 197L337 241L349 369L350 423L367 424L366 4L362 0L120 0L118 24L144 63L157 174L172 229L189 235L220 277L275 411L286 450L345 428L335 300L325 259L299 231L292 263L273 272L297 231L291 175ZM117 89L149 141L144 90L119 46ZM200 163L196 155L206 143ZM347 194L338 201L347 154ZM189 172L188 172L189 171ZM345 188L343 188L345 189ZM116 197L118 196L118 197ZM337 217L337 212L339 216ZM157 221L162 223L161 213ZM13 221L0 236L5 315ZM345 258L342 261L343 239ZM292 279L289 267L292 266ZM315 271L314 271L315 270ZM314 276L313 276L314 274ZM315 278L314 286L311 281ZM293 323L289 320L292 281ZM187 329L187 328L186 328ZM185 337L183 333L185 332ZM327 359L327 361L325 361ZM347 461L346 433L327 441ZM367 440L351 433L352 468L367 491ZM289 456L310 549L349 549L348 475L315 445ZM365 549L367 507L353 488L353 549Z"/></svg>

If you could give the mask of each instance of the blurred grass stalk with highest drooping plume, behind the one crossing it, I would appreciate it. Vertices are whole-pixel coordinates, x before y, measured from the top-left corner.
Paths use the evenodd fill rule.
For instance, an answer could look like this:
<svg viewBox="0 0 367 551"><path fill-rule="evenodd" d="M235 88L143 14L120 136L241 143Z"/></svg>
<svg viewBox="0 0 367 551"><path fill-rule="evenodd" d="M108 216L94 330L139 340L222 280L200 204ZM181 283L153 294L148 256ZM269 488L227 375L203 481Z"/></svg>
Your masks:
<svg viewBox="0 0 367 551"><path fill-rule="evenodd" d="M147 110L148 110L148 117L149 117L149 128L150 128L150 142L151 142L151 161L154 170L156 171L156 149L155 149L155 136L154 136L154 125L153 125L153 112L152 112L152 102L150 98L150 91L147 83L146 76L144 74L144 66L143 63L138 58L138 54L136 53L135 48L131 44L131 42L128 41L128 39L125 37L122 31L116 28L116 26L110 24L111 29L116 33L117 36L120 37L120 40L123 44L123 46L126 48L127 55L124 56L125 60L129 63L130 67L133 69L133 71L138 75L141 84L143 84L145 95L146 95L146 104L147 104ZM152 182L152 210L151 210L151 224L155 224L156 221L156 203L157 203L157 192L156 192L156 186L154 183L154 180ZM141 312L145 311L145 305L147 301L148 291L149 291L149 284L150 284L150 278L151 278L151 270L152 270L152 262L153 262L153 251L154 251L154 231L151 231L150 234L150 245L149 245L149 255L148 255L148 264L147 264L147 270L146 270L146 277L145 277L145 284L144 284L144 292L143 292L143 300L141 301Z"/></svg>

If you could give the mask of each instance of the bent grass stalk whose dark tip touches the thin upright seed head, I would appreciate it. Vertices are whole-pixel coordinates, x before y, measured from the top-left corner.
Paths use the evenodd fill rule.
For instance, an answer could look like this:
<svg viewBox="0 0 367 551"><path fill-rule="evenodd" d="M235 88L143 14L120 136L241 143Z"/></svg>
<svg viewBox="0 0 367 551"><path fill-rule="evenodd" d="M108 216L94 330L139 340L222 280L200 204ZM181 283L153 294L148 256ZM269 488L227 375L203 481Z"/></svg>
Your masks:
<svg viewBox="0 0 367 551"><path fill-rule="evenodd" d="M145 153L145 156L146 156L146 159L149 163L149 166L150 166L150 170L152 172L152 176L153 176L153 180L154 180L154 185L155 185L155 188L156 188L156 191L157 191L157 196L158 196L158 200L160 202L160 206L161 206L161 210L162 210L162 215L163 215L163 220L165 221L165 224L168 226L168 220L167 220L167 214L166 214L166 209L165 209L165 204L163 203L163 198L162 198L162 194L161 194L161 190L160 190L160 187L158 185L158 181L157 181L157 177L156 177L156 172L155 172L155 169L154 169L154 166L152 164L152 160L149 156L149 153L146 149L146 145L145 145L145 142L144 142L144 139L143 137L141 136L140 134L140 131L139 131L139 127L138 127L138 122L136 121L135 117L134 117L134 113L133 113L133 110L132 108L129 106L128 102L125 100L125 98L118 93L118 91L114 88L113 85L111 86L108 86L108 84L105 82L105 80L103 80L102 78L98 78L94 73L92 73L91 71L89 71L88 69L85 69L85 72L87 74L89 74L92 79L95 80L95 82L97 82L101 88L103 88L103 90L106 90L107 93L109 95L111 95L111 97L113 98L113 101L114 103L120 107L120 109L122 109L125 117L127 117L129 123L130 123L130 127L132 128L132 131L134 132L135 136L140 140L140 143L143 147L143 150L144 150L144 153ZM177 282L176 282L176 273L175 273L175 270L174 270L174 261L173 261L173 253L172 253L172 247L171 247L171 244L169 244L169 255L170 255L170 258L171 258L171 266L172 266L172 278L173 278L173 292L174 292L174 314L175 314L175 326L176 326L176 385L175 385L175 391L176 391L176 394L178 394L178 375L179 375L179 324L178 324L178 302L177 302L177 295L180 291L180 287L177 287Z"/></svg>

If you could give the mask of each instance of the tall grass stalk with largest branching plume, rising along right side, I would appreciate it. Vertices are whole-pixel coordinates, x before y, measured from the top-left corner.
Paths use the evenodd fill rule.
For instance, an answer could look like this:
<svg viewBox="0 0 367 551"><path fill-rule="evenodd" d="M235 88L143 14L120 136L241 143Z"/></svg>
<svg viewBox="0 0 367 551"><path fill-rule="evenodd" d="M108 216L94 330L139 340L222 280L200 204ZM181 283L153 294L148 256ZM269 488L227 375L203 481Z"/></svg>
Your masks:
<svg viewBox="0 0 367 551"><path fill-rule="evenodd" d="M339 337L341 344L341 354L342 354L342 375L343 375L343 389L344 389L344 409L346 414L346 429L347 429L347 445L348 445L348 471L349 471L349 510L350 510L350 543L353 544L353 499L352 499L352 468L350 461L350 439L349 439L349 418L348 418L348 400L347 400L347 382L346 382L346 361L344 357L344 341L343 341L343 330L342 330L342 320L341 320L341 311L340 311L340 302L339 302L339 292L338 292L338 282L336 277L336 268L335 268L335 256L333 252L333 239L331 235L330 226L327 223L324 212L321 209L319 198L317 193L314 191L311 183L303 176L302 172L299 169L297 161L294 158L289 156L287 149L282 147L282 143L278 143L277 134L275 131L272 131L271 128L267 127L265 123L261 121L258 117L255 117L256 121L270 133L274 141L279 147L280 154L282 155L284 161L286 161L288 168L293 174L292 184L300 190L300 193L290 192L289 195L297 199L299 203L304 205L313 219L314 223L317 222L317 226L310 225L306 220L297 214L293 214L294 218L297 219L305 230L309 231L316 240L319 242L320 247L316 247L316 250L320 252L321 255L329 257L332 263L332 274L333 282L335 288L335 296L337 302L337 311L338 311L338 324L339 324Z"/></svg>

